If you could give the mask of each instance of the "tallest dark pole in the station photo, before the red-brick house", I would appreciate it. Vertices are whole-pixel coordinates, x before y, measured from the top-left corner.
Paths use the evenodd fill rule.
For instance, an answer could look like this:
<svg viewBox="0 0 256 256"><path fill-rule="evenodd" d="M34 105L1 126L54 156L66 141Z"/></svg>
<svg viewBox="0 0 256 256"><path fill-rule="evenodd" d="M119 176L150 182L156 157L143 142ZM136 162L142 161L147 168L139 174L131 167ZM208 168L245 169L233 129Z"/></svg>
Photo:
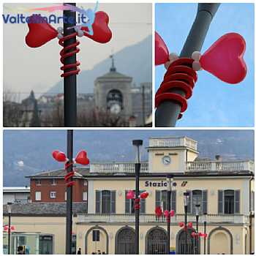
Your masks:
<svg viewBox="0 0 256 256"><path fill-rule="evenodd" d="M67 158L69 164L73 159L73 130L67 130ZM67 173L72 172L73 165L67 167ZM67 187L67 220L66 220L66 255L71 255L72 244L72 186Z"/></svg>

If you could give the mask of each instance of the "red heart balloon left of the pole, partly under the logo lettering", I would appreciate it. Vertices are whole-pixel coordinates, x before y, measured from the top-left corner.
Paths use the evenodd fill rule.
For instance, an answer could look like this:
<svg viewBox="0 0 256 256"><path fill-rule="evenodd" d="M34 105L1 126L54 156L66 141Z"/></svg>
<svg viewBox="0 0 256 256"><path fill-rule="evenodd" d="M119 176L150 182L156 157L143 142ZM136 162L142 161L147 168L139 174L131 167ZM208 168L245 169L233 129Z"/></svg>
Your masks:
<svg viewBox="0 0 256 256"><path fill-rule="evenodd" d="M50 26L41 15L30 16L28 26L29 33L26 35L26 45L32 48L45 45L46 42L58 35L58 31Z"/></svg>

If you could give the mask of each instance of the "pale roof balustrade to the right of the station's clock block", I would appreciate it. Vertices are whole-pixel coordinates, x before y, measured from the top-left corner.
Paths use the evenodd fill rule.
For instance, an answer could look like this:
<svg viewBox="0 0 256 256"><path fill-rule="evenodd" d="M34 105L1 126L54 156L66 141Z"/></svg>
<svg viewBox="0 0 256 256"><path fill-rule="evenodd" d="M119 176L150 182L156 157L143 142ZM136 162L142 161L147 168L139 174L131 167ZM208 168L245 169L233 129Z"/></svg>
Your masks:
<svg viewBox="0 0 256 256"><path fill-rule="evenodd" d="M254 171L254 162L252 161L194 161L187 162L189 171Z"/></svg>

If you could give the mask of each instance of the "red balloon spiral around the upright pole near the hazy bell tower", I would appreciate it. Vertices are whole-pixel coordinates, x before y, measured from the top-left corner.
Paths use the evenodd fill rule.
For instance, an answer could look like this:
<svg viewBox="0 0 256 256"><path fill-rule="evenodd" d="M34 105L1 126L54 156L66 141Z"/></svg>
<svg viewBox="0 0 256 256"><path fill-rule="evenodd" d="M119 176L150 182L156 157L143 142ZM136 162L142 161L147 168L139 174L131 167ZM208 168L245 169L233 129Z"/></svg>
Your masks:
<svg viewBox="0 0 256 256"><path fill-rule="evenodd" d="M76 36L77 36L77 32L74 32L72 34L69 34L68 36L64 36L61 39L59 39L59 45L63 47L63 49L59 53L61 55L61 63L63 64L63 66L61 67L61 70L64 71L61 74L61 78L65 78L69 75L78 75L78 73L80 72L80 69L78 68L78 66L80 65L79 61L76 61L74 64L67 64L67 65L64 64L64 59L80 52L80 49L77 47L78 45L80 45L80 42L78 40L76 40L71 45L64 46L64 42L66 40L71 39L72 37L75 37L76 39ZM75 69L70 71L65 71L67 69L72 69L72 68L75 68Z"/></svg>

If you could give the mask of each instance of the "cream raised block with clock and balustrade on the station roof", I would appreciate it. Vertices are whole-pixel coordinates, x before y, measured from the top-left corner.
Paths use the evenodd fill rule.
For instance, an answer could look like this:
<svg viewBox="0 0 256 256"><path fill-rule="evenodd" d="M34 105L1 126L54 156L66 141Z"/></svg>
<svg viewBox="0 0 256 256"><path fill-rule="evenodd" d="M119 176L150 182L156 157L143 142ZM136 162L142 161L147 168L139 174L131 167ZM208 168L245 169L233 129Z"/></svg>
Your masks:
<svg viewBox="0 0 256 256"><path fill-rule="evenodd" d="M150 138L148 167L150 173L184 173L187 162L197 158L197 141L187 137Z"/></svg>

